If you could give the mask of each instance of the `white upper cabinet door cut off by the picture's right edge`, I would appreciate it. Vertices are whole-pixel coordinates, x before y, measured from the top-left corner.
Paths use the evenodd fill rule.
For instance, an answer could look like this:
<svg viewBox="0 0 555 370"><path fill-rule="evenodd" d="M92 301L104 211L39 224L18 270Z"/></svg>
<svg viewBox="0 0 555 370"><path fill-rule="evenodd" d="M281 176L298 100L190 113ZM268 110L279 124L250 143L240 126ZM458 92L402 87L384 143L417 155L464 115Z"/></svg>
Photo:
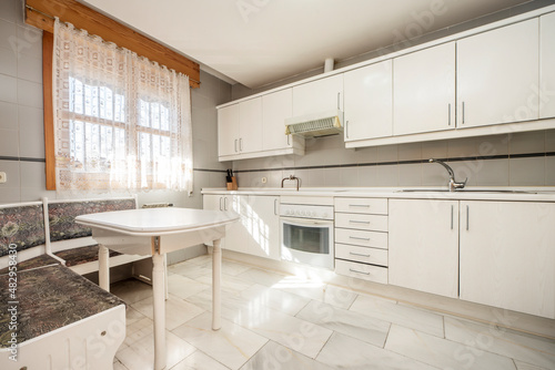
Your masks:
<svg viewBox="0 0 555 370"><path fill-rule="evenodd" d="M555 116L555 12L539 17L539 117Z"/></svg>

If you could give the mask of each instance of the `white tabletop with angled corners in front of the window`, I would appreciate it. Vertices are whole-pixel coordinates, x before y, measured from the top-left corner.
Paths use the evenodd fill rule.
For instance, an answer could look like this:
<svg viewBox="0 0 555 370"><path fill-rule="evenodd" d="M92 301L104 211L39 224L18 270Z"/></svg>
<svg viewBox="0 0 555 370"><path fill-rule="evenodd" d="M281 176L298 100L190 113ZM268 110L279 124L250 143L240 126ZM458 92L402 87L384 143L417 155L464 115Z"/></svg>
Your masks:
<svg viewBox="0 0 555 370"><path fill-rule="evenodd" d="M75 222L128 235L160 236L200 230L234 223L234 212L192 208L144 208L103 212L75 217Z"/></svg>

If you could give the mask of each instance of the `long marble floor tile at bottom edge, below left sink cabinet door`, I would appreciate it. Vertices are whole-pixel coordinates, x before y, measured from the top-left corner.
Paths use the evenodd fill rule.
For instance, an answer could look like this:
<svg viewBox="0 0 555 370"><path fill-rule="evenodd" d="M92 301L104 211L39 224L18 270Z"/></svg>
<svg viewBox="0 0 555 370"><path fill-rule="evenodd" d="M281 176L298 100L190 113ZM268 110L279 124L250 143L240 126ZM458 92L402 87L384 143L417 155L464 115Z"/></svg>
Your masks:
<svg viewBox="0 0 555 370"><path fill-rule="evenodd" d="M392 325L385 349L441 369L515 370L512 359Z"/></svg>

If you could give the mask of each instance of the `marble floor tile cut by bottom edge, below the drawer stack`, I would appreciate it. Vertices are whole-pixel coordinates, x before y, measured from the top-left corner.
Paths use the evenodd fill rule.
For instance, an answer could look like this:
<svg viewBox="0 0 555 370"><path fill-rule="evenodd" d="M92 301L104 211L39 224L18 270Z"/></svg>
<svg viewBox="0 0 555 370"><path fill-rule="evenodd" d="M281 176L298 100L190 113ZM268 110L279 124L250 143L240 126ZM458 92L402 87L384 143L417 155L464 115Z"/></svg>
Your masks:
<svg viewBox="0 0 555 370"><path fill-rule="evenodd" d="M361 340L334 332L316 360L334 369L433 370L428 364L390 352Z"/></svg>

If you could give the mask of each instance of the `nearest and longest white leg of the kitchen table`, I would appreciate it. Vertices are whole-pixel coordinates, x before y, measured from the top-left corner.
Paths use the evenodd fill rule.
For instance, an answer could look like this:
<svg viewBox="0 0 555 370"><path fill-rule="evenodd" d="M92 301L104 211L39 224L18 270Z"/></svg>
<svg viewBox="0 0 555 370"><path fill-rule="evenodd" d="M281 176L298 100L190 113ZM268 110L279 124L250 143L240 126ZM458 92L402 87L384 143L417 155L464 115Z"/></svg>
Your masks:
<svg viewBox="0 0 555 370"><path fill-rule="evenodd" d="M165 288L164 256L152 256L152 295L154 307L154 370L165 368Z"/></svg>

